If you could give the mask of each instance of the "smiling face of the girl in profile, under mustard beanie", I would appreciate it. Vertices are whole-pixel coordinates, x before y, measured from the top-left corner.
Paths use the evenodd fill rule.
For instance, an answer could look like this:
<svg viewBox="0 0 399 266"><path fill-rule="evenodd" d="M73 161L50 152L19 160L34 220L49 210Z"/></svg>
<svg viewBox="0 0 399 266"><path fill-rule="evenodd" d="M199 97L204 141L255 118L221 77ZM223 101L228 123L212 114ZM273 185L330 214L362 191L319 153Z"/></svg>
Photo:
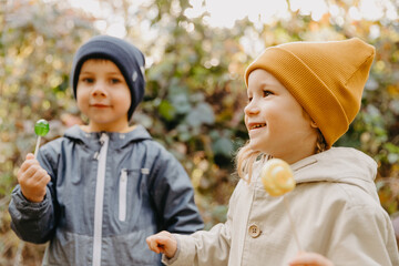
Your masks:
<svg viewBox="0 0 399 266"><path fill-rule="evenodd" d="M315 153L317 125L276 78L254 70L247 94L245 125L253 150L289 164Z"/></svg>

